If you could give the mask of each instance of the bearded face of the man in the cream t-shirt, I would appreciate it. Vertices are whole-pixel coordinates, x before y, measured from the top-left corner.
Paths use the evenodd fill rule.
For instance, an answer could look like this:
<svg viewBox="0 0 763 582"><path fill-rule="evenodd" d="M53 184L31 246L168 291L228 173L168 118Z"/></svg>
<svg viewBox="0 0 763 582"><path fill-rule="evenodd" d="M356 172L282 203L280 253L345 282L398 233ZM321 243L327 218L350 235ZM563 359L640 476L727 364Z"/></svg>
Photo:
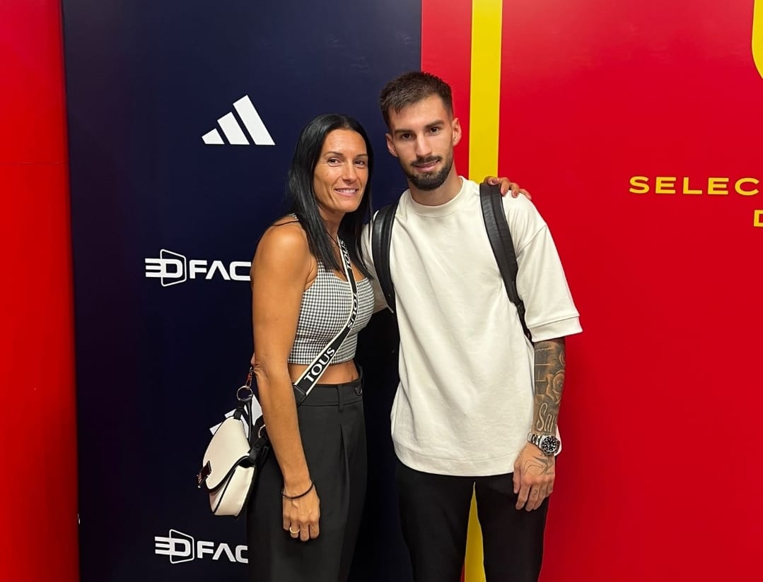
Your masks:
<svg viewBox="0 0 763 582"><path fill-rule="evenodd" d="M401 111L390 110L387 149L419 190L436 190L453 167L453 146L461 140L461 125L439 95L430 95Z"/></svg>

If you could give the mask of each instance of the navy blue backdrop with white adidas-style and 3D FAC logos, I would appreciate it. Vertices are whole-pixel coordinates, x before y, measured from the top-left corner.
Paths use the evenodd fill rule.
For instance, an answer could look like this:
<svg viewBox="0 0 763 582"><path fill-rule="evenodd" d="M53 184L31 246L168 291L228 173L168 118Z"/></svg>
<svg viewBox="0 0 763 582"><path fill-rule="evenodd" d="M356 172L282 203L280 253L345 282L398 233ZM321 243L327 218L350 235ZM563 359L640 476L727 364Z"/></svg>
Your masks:
<svg viewBox="0 0 763 582"><path fill-rule="evenodd" d="M244 580L243 520L211 516L194 477L250 359L248 262L317 114L369 131L375 207L404 187L376 102L419 67L420 3L63 0L63 14L82 580ZM374 320L364 582L410 576L390 494L395 332Z"/></svg>

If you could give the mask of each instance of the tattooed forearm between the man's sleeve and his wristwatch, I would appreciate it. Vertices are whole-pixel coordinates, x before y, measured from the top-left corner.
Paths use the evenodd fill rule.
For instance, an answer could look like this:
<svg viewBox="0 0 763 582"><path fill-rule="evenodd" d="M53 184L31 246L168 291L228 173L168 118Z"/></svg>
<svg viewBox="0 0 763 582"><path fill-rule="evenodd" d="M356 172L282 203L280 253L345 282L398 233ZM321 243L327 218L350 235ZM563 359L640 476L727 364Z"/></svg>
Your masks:
<svg viewBox="0 0 763 582"><path fill-rule="evenodd" d="M565 383L565 341L540 341L535 346L535 416L533 430L556 432Z"/></svg>

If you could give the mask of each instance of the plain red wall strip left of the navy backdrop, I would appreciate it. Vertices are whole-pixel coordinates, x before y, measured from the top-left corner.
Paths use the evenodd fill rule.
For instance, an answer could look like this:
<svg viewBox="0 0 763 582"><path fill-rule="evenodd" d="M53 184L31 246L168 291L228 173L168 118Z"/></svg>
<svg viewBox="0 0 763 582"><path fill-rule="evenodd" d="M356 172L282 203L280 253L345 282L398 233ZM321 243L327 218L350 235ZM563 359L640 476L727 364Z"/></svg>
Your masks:
<svg viewBox="0 0 763 582"><path fill-rule="evenodd" d="M79 579L60 3L0 8L2 580Z"/></svg>

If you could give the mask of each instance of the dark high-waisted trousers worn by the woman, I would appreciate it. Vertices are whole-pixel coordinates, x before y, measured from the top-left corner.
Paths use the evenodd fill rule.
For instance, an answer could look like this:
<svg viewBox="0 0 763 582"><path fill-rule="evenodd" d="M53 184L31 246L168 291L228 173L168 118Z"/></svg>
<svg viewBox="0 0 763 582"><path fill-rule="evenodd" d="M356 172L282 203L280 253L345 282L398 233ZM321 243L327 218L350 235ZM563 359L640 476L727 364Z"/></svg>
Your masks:
<svg viewBox="0 0 763 582"><path fill-rule="evenodd" d="M307 467L320 497L320 535L283 529L283 477L271 454L246 513L252 582L344 582L365 498L362 382L319 384L297 409Z"/></svg>

